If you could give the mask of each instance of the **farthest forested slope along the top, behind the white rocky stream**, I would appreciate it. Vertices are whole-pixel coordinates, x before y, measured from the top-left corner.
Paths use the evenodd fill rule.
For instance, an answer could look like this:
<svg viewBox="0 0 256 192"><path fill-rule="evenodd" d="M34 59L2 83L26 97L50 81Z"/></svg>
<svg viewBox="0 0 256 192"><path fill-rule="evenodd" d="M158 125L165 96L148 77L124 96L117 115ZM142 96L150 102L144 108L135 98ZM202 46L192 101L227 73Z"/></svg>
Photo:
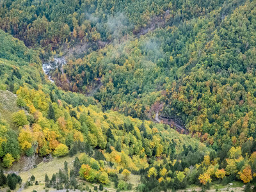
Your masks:
<svg viewBox="0 0 256 192"><path fill-rule="evenodd" d="M166 20L166 24L179 24L205 15L223 2L3 0L0 28L29 47L42 48L42 58L48 58L60 45L69 47L89 42L90 50L84 52L90 52L102 47L102 41L111 42L127 34L140 33L156 17L158 21Z"/></svg>

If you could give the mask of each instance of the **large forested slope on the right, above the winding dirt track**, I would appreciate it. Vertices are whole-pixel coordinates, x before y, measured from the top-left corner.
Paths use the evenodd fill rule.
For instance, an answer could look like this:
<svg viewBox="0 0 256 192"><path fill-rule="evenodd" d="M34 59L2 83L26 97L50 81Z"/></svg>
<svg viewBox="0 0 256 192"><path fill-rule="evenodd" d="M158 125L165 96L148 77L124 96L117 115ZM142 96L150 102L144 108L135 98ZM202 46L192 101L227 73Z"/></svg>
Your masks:
<svg viewBox="0 0 256 192"><path fill-rule="evenodd" d="M164 116L179 118L215 149L223 141L241 145L255 138L254 36L255 1L246 1L225 18L214 10L109 45L70 61L65 71L74 92L100 78L95 99L106 109L147 118L154 102L164 102Z"/></svg>

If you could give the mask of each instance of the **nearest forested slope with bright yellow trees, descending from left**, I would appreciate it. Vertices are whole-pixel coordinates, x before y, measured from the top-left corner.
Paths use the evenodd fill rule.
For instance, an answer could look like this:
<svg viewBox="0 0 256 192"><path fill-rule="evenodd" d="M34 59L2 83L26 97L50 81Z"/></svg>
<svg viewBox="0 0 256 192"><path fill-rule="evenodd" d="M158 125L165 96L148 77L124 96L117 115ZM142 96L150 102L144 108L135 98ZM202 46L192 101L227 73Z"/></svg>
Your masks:
<svg viewBox="0 0 256 192"><path fill-rule="evenodd" d="M116 173L125 170L129 175L132 172L145 178L141 180L143 182L147 182L148 174L154 174L154 180L159 183L157 180L160 176L157 175L160 172L157 173L155 170L159 164L162 164L160 167L179 167L177 173L170 172L170 175L167 175L166 172L162 175L162 182L165 177L177 177L178 173L184 175L182 171L185 168L201 163L204 156L211 151L200 141L179 134L168 125L125 117L114 111L104 113L100 104L89 105L94 104L93 99L58 90L42 74L41 63L35 51L26 48L22 42L3 31L1 38L4 42L4 46L1 47L1 50L4 50L1 53L1 57L4 58L1 59L4 70L1 71L4 72L2 76L6 78L2 81L1 89L10 90L1 91L0 97L0 156L4 167L12 167L22 156L38 154L45 157L52 154L61 157L85 152L86 154L81 154L77 160L83 164L80 165L81 169L78 168L82 179L107 185L113 183L116 188L123 189L129 186L127 179L118 181ZM26 60L24 52L28 52L30 57L35 59ZM6 111L6 108L10 109ZM185 160L188 156L189 161ZM86 173L89 175L83 175L84 169L91 170ZM74 179L76 180L79 174L73 174L70 180L58 184L45 182L45 186L60 188L58 185L65 182L67 188L79 188L79 185L74 184ZM1 179L2 177L4 178L3 175ZM10 177L16 178L13 175ZM17 178L17 182L22 184L20 178ZM33 179L29 182L33 183ZM29 182L26 182L26 188L30 186ZM166 182L173 181L168 179ZM5 182L0 184L4 186ZM6 185L11 189L15 189L16 186L9 182ZM176 185L175 188L180 187ZM140 188L149 190L144 184L141 184ZM153 188L159 186L150 187Z"/></svg>

